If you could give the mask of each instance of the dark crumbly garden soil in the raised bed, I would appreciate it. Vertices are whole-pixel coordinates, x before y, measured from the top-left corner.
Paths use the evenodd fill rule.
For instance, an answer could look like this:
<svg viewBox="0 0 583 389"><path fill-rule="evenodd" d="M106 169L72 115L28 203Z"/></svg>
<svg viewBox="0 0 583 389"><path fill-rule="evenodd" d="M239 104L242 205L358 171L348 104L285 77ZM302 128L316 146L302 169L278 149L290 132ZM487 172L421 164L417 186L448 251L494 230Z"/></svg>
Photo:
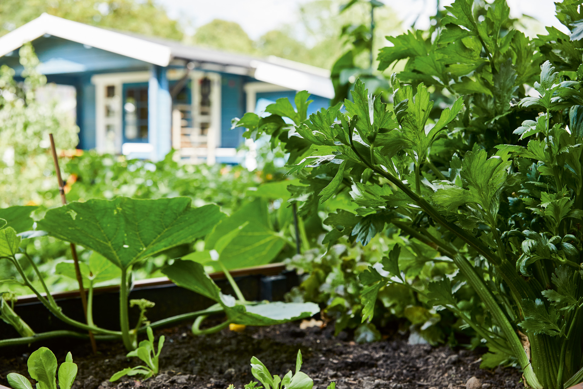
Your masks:
<svg viewBox="0 0 583 389"><path fill-rule="evenodd" d="M227 329L201 337L194 337L186 325L155 331L156 337L166 335L161 373L142 382L127 377L108 382L118 370L141 364L138 358L125 357L121 342L99 344L97 356L86 342L69 344L79 366L73 389L224 389L231 383L242 388L253 379L251 356L272 374L282 375L294 369L298 348L304 359L302 371L314 379L314 389L326 389L330 381L336 381L339 389L452 389L465 388L472 377L476 378L468 383L471 389L524 388L517 370L479 369L480 355L465 349L409 345L399 334L373 344L355 344L345 332L332 337L332 331L331 326L301 330L298 323L248 327L244 332ZM69 350L53 351L62 362ZM10 372L27 376L27 356L5 356L0 349L0 384L8 384Z"/></svg>

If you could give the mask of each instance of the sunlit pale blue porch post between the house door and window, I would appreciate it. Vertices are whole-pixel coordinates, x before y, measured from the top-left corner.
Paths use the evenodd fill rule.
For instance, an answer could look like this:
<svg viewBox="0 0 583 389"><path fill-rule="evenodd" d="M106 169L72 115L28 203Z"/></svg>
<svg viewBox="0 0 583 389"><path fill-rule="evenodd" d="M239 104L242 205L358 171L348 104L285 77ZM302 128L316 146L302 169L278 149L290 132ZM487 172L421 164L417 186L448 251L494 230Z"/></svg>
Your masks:
<svg viewBox="0 0 583 389"><path fill-rule="evenodd" d="M166 78L166 68L152 65L147 89L148 143L153 147L150 159L159 161L171 149L172 99Z"/></svg>

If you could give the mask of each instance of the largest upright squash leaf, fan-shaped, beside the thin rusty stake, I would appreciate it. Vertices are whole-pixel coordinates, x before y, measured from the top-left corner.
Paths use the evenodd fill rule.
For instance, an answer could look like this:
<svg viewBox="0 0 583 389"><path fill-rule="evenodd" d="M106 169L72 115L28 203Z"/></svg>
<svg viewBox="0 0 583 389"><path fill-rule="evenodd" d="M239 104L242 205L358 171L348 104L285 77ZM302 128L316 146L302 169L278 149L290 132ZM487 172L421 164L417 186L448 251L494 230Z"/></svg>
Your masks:
<svg viewBox="0 0 583 389"><path fill-rule="evenodd" d="M91 199L50 209L37 223L51 236L91 248L119 268L205 236L224 214L187 197Z"/></svg>

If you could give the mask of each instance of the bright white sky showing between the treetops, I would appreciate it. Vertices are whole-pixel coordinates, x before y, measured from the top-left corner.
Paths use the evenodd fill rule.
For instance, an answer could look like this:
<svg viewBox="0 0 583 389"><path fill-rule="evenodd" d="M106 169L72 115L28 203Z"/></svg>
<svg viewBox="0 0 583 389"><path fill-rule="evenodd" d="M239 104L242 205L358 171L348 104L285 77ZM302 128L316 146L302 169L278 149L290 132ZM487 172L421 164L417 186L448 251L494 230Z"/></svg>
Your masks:
<svg viewBox="0 0 583 389"><path fill-rule="evenodd" d="M202 26L213 19L233 20L241 24L252 39L257 39L269 30L282 24L293 24L298 20L298 5L310 0L159 0L170 16L194 27ZM429 26L429 16L434 15L437 0L383 0L394 9L405 26L417 19L417 28ZM554 26L568 32L554 16L553 0L507 0L511 17L521 14L538 19L544 26ZM452 0L441 0L440 5L449 5ZM542 32L542 31L537 31Z"/></svg>

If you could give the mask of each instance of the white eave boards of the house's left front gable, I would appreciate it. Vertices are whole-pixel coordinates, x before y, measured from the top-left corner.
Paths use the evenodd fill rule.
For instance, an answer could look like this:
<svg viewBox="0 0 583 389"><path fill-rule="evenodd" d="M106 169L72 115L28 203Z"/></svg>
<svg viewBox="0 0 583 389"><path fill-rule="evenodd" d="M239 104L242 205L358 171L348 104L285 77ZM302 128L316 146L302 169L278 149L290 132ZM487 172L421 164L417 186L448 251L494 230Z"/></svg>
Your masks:
<svg viewBox="0 0 583 389"><path fill-rule="evenodd" d="M168 66L172 57L171 50L167 46L47 13L0 37L0 57L44 34L115 52L154 65Z"/></svg>

